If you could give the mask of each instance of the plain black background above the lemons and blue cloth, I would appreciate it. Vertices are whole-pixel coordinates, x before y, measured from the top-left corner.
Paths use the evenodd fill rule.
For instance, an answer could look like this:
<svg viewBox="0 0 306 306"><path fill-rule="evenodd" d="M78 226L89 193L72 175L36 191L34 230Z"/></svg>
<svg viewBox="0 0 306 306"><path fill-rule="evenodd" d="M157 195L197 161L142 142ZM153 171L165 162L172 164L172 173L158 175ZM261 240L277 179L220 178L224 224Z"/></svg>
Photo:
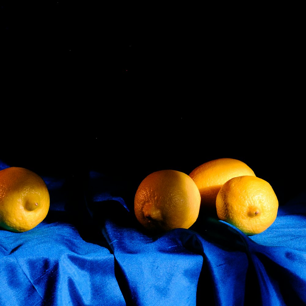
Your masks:
<svg viewBox="0 0 306 306"><path fill-rule="evenodd" d="M300 17L286 7L2 2L0 158L42 175L247 163L304 190Z"/></svg>

